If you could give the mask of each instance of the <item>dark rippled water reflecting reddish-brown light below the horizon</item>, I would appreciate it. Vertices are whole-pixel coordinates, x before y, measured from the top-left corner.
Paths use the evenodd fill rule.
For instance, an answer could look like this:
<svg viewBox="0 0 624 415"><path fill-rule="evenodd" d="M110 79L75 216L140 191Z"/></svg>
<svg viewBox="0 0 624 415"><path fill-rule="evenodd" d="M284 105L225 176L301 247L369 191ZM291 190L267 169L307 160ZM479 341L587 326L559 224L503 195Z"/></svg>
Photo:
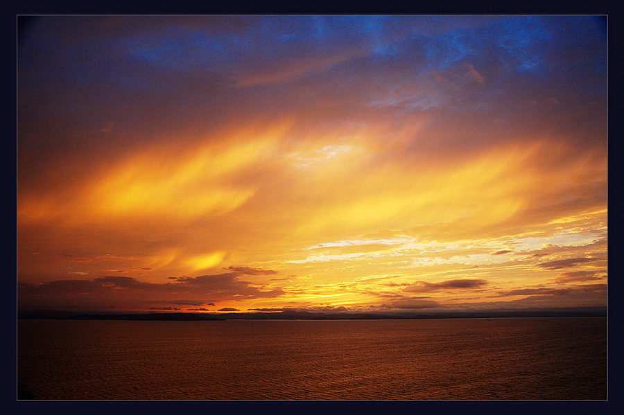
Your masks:
<svg viewBox="0 0 624 415"><path fill-rule="evenodd" d="M607 319L18 322L53 400L605 400Z"/></svg>

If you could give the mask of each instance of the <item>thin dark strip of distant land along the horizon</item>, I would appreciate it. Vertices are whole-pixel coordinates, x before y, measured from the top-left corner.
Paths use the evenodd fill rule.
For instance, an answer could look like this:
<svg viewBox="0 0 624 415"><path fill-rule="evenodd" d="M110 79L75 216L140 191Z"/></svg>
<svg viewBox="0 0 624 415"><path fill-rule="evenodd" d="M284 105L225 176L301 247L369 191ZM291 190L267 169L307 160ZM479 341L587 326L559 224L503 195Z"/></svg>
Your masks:
<svg viewBox="0 0 624 415"><path fill-rule="evenodd" d="M365 313L365 312L311 312L284 310L275 312L68 312L34 310L17 313L18 319L62 320L135 320L135 321L225 321L225 320L371 320L371 319L474 319L503 317L607 317L606 308L556 310L498 310L470 312Z"/></svg>

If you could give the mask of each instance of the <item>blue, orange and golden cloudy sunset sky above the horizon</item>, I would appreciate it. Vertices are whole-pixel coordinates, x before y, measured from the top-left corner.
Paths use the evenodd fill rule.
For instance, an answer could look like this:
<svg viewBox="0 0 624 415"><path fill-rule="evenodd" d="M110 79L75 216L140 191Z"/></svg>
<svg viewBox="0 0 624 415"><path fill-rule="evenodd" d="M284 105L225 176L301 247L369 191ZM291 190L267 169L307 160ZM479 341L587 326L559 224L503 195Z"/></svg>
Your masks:
<svg viewBox="0 0 624 415"><path fill-rule="evenodd" d="M19 310L607 306L607 18L17 19Z"/></svg>

